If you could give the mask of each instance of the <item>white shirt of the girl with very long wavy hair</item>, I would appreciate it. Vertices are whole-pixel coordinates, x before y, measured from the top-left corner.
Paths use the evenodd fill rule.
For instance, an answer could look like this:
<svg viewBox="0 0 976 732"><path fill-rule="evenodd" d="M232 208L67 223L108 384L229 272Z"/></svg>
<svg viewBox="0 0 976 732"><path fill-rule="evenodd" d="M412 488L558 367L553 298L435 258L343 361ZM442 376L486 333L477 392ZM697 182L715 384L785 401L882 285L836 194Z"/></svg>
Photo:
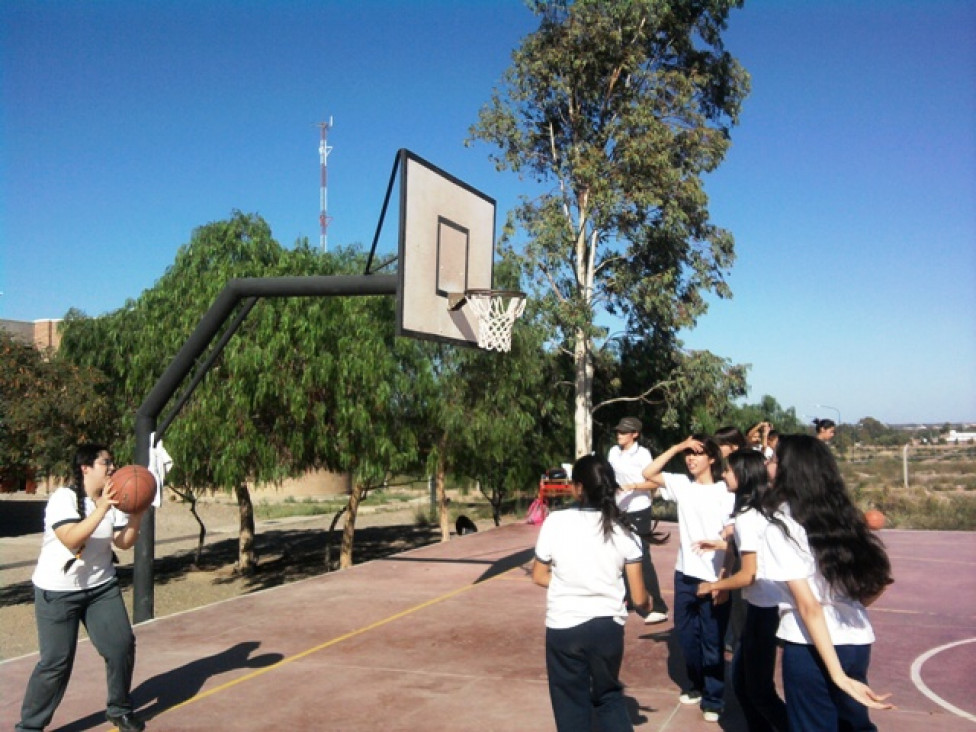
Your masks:
<svg viewBox="0 0 976 732"><path fill-rule="evenodd" d="M796 609L786 583L805 579L823 606L824 620L835 646L863 646L874 643L874 629L868 611L857 600L836 595L817 570L807 532L783 506L776 517L789 531L789 537L776 524L770 524L764 537L765 572L779 592L779 631L776 636L790 643L813 645L803 619Z"/></svg>

